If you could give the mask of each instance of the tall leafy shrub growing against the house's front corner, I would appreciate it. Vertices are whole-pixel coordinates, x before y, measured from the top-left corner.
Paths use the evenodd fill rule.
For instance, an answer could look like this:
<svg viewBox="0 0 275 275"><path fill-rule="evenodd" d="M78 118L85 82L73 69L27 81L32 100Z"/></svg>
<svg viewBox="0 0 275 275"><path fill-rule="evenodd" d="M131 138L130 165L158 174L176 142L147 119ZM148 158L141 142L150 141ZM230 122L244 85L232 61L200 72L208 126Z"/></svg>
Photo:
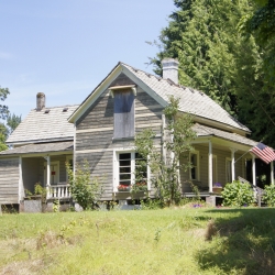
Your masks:
<svg viewBox="0 0 275 275"><path fill-rule="evenodd" d="M190 141L196 133L191 130L193 120L188 114L178 112L178 100L170 97L169 105L165 108L166 128L164 133L164 147L166 157L155 146L155 133L152 129L145 129L135 136L136 152L145 160L152 172L152 185L155 188L156 198L164 205L177 204L182 196L182 184L179 180L179 169L190 167L179 160L188 160L189 152L193 150Z"/></svg>

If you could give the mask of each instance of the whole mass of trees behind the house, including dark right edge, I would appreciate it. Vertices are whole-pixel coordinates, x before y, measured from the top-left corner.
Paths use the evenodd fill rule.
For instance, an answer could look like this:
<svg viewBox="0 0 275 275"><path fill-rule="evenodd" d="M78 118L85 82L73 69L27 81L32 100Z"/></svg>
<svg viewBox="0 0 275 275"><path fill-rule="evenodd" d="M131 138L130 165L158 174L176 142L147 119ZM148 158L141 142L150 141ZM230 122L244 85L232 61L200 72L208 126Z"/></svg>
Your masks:
<svg viewBox="0 0 275 275"><path fill-rule="evenodd" d="M174 0L151 58L179 61L179 82L199 89L275 146L275 40L273 0ZM248 28L250 25L250 28ZM266 35L267 33L267 35Z"/></svg>

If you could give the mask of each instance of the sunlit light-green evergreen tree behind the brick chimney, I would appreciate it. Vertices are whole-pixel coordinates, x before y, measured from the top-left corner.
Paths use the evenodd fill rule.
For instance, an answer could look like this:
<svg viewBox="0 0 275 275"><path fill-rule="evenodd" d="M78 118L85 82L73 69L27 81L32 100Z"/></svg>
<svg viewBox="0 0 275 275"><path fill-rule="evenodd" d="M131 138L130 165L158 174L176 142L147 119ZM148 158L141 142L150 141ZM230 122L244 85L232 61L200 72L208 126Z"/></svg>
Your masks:
<svg viewBox="0 0 275 275"><path fill-rule="evenodd" d="M238 32L240 19L253 7L246 0L174 2L177 10L162 30L161 52L151 59L155 73L161 75L164 57L178 58L182 85L204 91L238 116L238 96L241 89L249 89L248 80L262 85L261 78L255 79L261 64L258 47L253 37L248 40Z"/></svg>

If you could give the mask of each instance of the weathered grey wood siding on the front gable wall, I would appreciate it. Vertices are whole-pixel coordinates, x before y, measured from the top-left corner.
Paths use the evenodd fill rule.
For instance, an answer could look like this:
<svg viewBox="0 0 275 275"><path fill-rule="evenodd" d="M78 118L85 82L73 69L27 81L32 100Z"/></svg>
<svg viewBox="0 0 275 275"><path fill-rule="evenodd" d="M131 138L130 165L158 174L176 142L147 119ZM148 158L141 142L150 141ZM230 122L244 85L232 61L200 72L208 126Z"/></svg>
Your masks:
<svg viewBox="0 0 275 275"><path fill-rule="evenodd" d="M133 84L121 74L112 85ZM106 90L76 123L76 162L87 160L90 164L91 177L103 179L102 199L112 199L113 193L113 151L133 146L133 139L113 140L113 102L114 99ZM136 87L134 99L135 133L152 128L157 133L156 143L161 144L162 111L158 105L140 87Z"/></svg>

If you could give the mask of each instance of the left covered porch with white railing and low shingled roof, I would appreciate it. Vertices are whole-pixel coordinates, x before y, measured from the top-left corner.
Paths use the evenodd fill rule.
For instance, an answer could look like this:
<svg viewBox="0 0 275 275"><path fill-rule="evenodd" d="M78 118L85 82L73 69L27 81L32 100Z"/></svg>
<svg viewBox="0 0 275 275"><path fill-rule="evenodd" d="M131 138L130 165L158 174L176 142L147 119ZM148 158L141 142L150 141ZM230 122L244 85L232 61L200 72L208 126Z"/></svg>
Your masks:
<svg viewBox="0 0 275 275"><path fill-rule="evenodd" d="M35 185L46 189L47 200L69 200L66 163L73 168L73 142L29 144L7 151L19 158L19 201L35 194Z"/></svg>

